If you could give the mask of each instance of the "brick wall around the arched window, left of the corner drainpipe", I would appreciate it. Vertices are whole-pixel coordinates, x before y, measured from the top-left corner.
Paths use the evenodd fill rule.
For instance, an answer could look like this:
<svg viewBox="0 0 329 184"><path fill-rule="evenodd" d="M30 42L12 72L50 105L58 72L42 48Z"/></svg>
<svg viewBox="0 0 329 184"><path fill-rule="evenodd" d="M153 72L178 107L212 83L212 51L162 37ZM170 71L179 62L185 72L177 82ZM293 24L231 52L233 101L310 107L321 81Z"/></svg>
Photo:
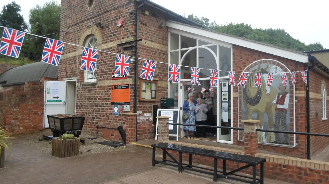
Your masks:
<svg viewBox="0 0 329 184"><path fill-rule="evenodd" d="M79 44L81 35L88 26L101 22L104 28L101 31L101 43L111 44L115 41L125 42L124 39L134 37L135 15L130 15L129 10L134 10L134 1L130 0L106 0L94 1L93 7L78 0L62 0L61 4L61 30L71 31L60 35L61 40ZM120 17L124 20L122 27L116 26L116 20ZM134 39L133 39L134 40ZM99 40L98 40L99 42ZM106 46L105 46L106 47ZM63 55L81 51L82 47L66 44ZM133 48L122 49L116 44L101 50L118 54L134 56ZM122 125L125 128L126 117L123 113L113 116L113 105L111 105L111 84L118 84L118 80L111 81L111 72L114 72L115 55L98 52L96 62L97 83L84 83L84 71L80 69L81 54L72 57L63 57L59 64L59 80L77 78L76 114L86 116L83 131L96 136L96 125L117 128ZM128 80L133 81L134 64L130 63ZM121 83L130 83L120 80ZM130 85L130 112L134 112L134 83ZM98 136L119 141L120 134L117 130L99 128Z"/></svg>

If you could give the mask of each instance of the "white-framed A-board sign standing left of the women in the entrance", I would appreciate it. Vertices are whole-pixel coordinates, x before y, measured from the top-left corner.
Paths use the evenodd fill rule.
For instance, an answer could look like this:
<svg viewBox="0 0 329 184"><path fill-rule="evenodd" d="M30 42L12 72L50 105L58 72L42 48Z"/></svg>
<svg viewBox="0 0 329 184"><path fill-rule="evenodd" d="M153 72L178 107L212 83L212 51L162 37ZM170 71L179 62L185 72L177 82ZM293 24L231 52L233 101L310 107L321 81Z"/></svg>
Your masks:
<svg viewBox="0 0 329 184"><path fill-rule="evenodd" d="M158 109L157 116L169 116L169 123L179 122L179 109ZM155 132L155 140L158 139L158 120ZM169 125L169 136L175 136L178 140L178 125Z"/></svg>

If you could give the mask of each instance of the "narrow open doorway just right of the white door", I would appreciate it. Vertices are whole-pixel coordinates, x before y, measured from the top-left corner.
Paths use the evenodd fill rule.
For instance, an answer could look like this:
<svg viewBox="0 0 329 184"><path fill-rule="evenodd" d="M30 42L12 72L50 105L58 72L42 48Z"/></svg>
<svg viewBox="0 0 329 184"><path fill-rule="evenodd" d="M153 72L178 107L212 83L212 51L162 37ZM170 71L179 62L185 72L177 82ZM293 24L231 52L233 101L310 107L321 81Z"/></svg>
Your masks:
<svg viewBox="0 0 329 184"><path fill-rule="evenodd" d="M66 82L66 109L65 114L75 115L76 112L76 87L77 81L67 80Z"/></svg>

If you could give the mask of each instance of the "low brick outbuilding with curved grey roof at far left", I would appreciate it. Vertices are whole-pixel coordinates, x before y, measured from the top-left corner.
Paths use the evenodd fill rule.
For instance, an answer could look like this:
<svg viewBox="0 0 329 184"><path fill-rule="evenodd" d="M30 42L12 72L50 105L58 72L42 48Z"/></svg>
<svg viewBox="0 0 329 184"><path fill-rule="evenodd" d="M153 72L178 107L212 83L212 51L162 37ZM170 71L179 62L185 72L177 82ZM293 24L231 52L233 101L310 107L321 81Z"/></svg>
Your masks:
<svg viewBox="0 0 329 184"><path fill-rule="evenodd" d="M57 80L58 67L26 64L0 74L0 126L9 134L26 134L44 127L44 81Z"/></svg>

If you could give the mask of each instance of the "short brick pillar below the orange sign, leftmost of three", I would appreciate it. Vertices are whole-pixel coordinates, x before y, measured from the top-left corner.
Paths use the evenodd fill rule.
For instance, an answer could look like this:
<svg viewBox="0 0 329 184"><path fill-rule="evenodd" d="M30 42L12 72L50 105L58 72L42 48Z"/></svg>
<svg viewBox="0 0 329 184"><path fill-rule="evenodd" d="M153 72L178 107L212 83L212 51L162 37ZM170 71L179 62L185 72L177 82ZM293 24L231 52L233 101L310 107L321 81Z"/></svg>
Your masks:
<svg viewBox="0 0 329 184"><path fill-rule="evenodd" d="M125 113L126 115L126 143L136 141L136 116L137 113Z"/></svg>

